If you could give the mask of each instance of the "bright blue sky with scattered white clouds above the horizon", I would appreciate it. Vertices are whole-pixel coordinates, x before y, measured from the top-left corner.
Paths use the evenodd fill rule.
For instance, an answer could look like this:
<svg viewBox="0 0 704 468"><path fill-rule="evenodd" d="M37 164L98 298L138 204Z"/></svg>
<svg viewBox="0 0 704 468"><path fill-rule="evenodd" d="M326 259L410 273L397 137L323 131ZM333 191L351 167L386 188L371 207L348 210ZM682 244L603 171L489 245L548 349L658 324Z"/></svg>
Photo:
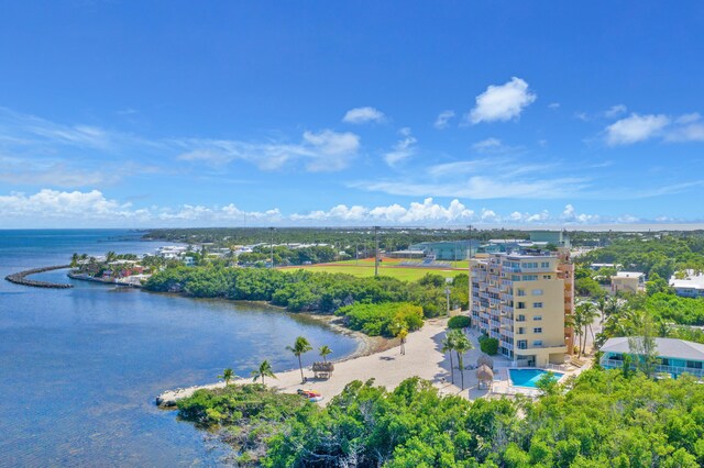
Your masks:
<svg viewBox="0 0 704 468"><path fill-rule="evenodd" d="M704 5L10 1L4 227L704 221Z"/></svg>

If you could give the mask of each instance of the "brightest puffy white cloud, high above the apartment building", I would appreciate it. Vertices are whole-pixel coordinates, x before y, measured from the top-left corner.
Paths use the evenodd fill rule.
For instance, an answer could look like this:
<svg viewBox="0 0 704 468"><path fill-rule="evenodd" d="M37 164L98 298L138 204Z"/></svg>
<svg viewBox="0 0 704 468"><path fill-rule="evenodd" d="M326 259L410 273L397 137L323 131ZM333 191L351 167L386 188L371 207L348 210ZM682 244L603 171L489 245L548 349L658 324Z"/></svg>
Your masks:
<svg viewBox="0 0 704 468"><path fill-rule="evenodd" d="M528 90L528 83L513 77L504 85L491 85L476 97L476 105L466 115L472 124L517 119L522 110L536 100Z"/></svg>

